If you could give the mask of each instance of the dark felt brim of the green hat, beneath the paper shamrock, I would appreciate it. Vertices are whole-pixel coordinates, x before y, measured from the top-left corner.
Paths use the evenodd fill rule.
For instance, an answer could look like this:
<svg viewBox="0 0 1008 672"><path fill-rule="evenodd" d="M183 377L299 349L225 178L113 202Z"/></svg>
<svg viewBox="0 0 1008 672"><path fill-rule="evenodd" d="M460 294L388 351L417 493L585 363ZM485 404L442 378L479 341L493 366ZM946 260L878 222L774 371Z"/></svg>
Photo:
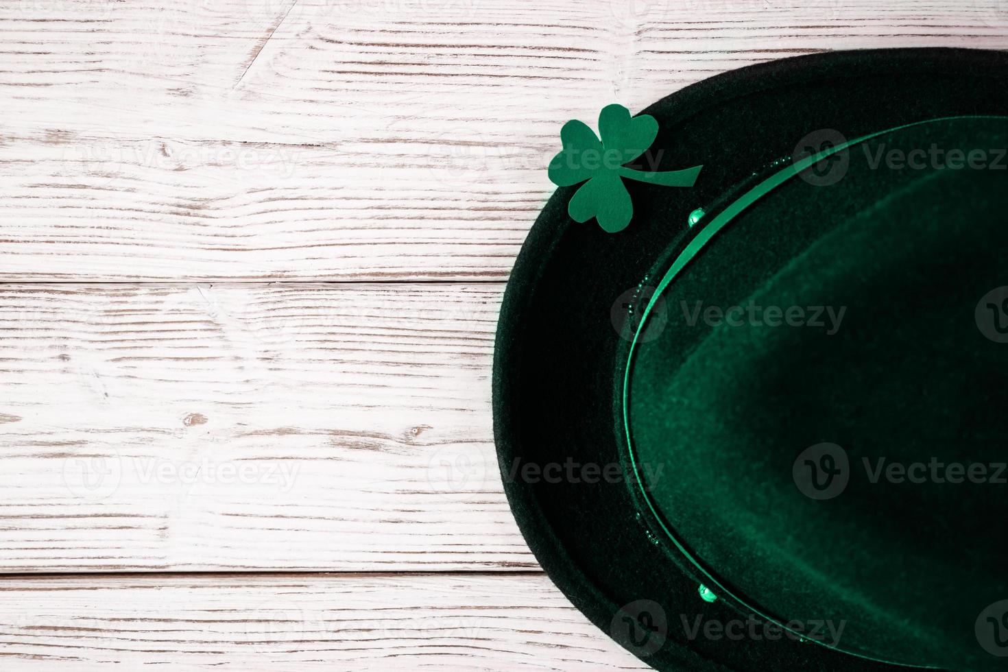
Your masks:
<svg viewBox="0 0 1008 672"><path fill-rule="evenodd" d="M703 577L636 515L641 503L627 479L605 474L624 465L627 453L621 363L629 343L613 327L611 308L624 292L657 282L696 235L685 226L690 212L790 156L810 131L859 137L923 119L1005 115L1006 66L1001 52L926 48L814 54L734 71L643 111L659 124L653 147L662 150L662 169L705 165L692 189L668 194L633 185L636 214L617 235L570 219L573 187L557 189L543 209L512 271L497 332L494 432L504 488L550 578L652 667L907 669L789 637L729 642L684 634L683 613L725 623L739 618L738 607L701 600ZM658 612L649 618L660 626L649 642L624 626L628 613L645 609Z"/></svg>

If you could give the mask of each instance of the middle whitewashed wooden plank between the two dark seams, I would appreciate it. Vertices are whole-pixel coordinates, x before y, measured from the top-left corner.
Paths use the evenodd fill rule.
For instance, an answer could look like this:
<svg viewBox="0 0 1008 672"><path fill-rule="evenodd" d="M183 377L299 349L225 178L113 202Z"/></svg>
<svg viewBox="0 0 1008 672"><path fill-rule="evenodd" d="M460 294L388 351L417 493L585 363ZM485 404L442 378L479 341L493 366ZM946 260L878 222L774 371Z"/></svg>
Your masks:
<svg viewBox="0 0 1008 672"><path fill-rule="evenodd" d="M0 571L537 567L501 291L0 286Z"/></svg>

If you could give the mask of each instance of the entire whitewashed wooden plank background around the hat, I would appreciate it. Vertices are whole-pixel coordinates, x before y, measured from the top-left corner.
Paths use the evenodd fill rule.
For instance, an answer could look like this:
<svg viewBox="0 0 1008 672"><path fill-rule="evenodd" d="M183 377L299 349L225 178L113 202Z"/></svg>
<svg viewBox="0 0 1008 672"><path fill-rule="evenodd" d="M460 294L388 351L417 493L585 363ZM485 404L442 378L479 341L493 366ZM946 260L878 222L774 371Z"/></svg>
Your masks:
<svg viewBox="0 0 1008 672"><path fill-rule="evenodd" d="M1008 0L0 2L0 668L640 669L496 472L559 127L923 45Z"/></svg>

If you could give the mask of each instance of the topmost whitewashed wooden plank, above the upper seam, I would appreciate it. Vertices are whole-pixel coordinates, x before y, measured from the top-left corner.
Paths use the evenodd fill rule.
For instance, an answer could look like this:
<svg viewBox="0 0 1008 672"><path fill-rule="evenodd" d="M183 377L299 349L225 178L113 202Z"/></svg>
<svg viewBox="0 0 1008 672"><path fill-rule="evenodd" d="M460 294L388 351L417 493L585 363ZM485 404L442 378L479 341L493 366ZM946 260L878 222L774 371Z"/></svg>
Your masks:
<svg viewBox="0 0 1008 672"><path fill-rule="evenodd" d="M825 49L1008 47L1004 0L0 7L0 279L506 278L570 118Z"/></svg>

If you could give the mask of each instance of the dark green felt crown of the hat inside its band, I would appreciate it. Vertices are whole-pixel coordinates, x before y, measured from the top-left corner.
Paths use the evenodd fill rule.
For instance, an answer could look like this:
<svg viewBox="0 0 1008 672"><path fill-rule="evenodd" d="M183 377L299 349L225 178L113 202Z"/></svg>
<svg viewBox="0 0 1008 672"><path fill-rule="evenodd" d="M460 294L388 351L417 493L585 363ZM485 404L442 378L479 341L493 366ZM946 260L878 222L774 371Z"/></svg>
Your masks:
<svg viewBox="0 0 1008 672"><path fill-rule="evenodd" d="M735 217L652 304L626 417L645 511L707 585L842 625L817 641L850 653L983 669L976 619L1008 597L1008 190L868 160L932 144L1004 147L1006 123L894 131L851 147L844 188L794 176Z"/></svg>

